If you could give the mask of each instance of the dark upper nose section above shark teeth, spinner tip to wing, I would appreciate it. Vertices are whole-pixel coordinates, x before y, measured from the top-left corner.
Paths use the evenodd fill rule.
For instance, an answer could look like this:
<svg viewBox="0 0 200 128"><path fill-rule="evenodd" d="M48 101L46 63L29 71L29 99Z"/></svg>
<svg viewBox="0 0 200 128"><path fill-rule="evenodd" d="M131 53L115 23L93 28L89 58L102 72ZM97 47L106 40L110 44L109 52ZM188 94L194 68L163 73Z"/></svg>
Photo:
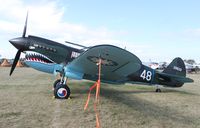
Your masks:
<svg viewBox="0 0 200 128"><path fill-rule="evenodd" d="M36 36L15 38L10 42L23 51L40 53L55 63L68 63L79 56L84 50L79 50L64 44Z"/></svg>

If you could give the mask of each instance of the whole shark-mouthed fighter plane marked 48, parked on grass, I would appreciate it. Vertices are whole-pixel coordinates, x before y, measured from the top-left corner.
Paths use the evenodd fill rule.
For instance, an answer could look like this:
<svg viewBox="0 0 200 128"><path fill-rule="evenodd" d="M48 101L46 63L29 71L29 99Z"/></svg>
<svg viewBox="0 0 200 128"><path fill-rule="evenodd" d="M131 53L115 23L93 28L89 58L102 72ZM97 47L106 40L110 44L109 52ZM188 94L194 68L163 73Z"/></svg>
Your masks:
<svg viewBox="0 0 200 128"><path fill-rule="evenodd" d="M157 72L143 65L134 54L113 45L83 46L83 49L76 49L36 36L26 37L27 17L22 37L9 40L18 49L10 75L21 52L32 51L34 53L26 55L27 65L39 71L60 74L61 79L53 85L56 98L66 99L70 96L67 78L166 87L181 87L186 82L193 82L186 77L185 64L181 58L175 58L163 72ZM160 91L159 88L156 89L156 92Z"/></svg>

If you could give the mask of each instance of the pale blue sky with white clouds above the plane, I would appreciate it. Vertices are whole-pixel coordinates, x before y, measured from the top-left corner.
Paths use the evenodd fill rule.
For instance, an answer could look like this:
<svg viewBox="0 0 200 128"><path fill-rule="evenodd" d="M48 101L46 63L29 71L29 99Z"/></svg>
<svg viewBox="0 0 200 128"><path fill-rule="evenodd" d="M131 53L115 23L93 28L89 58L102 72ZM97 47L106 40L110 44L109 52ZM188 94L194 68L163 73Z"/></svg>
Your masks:
<svg viewBox="0 0 200 128"><path fill-rule="evenodd" d="M27 33L85 46L112 44L142 61L175 57L200 63L199 0L0 0L0 58L14 58L8 42Z"/></svg>

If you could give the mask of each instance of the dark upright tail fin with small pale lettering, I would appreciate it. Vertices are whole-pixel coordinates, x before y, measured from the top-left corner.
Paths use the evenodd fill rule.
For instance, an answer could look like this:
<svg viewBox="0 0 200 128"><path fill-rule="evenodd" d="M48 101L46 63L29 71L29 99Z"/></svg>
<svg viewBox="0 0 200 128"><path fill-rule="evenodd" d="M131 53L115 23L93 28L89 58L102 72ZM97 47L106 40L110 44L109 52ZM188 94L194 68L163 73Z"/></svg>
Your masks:
<svg viewBox="0 0 200 128"><path fill-rule="evenodd" d="M183 60L180 57L175 58L163 71L163 73L177 75L177 76L186 76L186 69Z"/></svg>

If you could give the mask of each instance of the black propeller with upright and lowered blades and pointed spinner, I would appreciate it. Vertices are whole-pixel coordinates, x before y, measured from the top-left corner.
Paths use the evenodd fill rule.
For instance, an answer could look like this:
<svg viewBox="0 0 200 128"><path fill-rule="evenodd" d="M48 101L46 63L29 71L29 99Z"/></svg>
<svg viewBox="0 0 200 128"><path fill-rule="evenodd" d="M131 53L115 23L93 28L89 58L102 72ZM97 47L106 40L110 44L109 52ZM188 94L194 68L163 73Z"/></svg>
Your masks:
<svg viewBox="0 0 200 128"><path fill-rule="evenodd" d="M27 12L27 15L26 15L26 21L25 21L22 37L9 40L9 42L12 43L18 49L18 51L17 51L17 53L15 55L15 59L13 61L11 70L10 70L10 76L12 75L13 71L15 70L15 67L17 65L17 62L19 61L21 52L24 51L23 41L24 41L24 38L26 36L27 20L28 20L28 12Z"/></svg>

